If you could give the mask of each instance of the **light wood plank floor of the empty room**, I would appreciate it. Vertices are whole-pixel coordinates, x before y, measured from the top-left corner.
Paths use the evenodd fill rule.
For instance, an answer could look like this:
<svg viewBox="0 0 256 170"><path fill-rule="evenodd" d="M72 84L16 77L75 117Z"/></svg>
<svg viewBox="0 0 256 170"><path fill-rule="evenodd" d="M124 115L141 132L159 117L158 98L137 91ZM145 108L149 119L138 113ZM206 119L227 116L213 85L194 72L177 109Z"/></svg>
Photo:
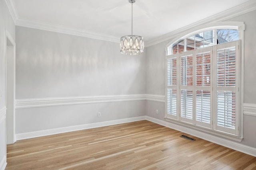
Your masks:
<svg viewBox="0 0 256 170"><path fill-rule="evenodd" d="M254 156L183 134L145 120L20 140L6 170L256 170Z"/></svg>

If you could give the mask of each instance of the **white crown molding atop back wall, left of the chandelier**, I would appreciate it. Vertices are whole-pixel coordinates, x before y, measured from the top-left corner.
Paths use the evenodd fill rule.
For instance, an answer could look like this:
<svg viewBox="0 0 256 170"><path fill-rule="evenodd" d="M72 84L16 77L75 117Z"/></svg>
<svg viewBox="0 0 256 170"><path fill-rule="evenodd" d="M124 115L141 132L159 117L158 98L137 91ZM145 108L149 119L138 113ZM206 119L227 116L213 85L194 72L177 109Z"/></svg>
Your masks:
<svg viewBox="0 0 256 170"><path fill-rule="evenodd" d="M67 27L64 25L57 25L57 24L53 24L53 23L33 21L33 20L25 19L25 18L19 18L16 21L16 25L22 26L22 27L34 28L34 29L41 29L44 31L52 31L52 32L57 32L57 33L64 33L64 34L76 35L76 36L80 36L80 37L88 37L88 38L92 38L92 39L99 39L99 40L104 40L104 41L120 43L120 37L117 37L114 35L107 35L107 34L103 34L103 33L86 31L84 29L72 28L72 27Z"/></svg>

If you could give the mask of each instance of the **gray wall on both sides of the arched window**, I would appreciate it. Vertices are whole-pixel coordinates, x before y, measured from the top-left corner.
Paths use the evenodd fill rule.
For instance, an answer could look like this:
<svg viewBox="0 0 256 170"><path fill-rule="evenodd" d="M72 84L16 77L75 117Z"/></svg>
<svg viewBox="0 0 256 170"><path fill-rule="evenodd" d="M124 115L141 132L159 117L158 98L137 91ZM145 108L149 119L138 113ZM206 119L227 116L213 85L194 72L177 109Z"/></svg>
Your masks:
<svg viewBox="0 0 256 170"><path fill-rule="evenodd" d="M256 104L256 11L229 19L228 21L243 21L244 31L244 103ZM170 40L171 41L171 40ZM165 93L165 47L170 41L165 41L147 48L146 93L164 95ZM164 104L146 101L147 115L164 120ZM155 110L160 112L156 115ZM243 114L243 113L241 113ZM256 117L244 115L244 139L242 144L256 148Z"/></svg>

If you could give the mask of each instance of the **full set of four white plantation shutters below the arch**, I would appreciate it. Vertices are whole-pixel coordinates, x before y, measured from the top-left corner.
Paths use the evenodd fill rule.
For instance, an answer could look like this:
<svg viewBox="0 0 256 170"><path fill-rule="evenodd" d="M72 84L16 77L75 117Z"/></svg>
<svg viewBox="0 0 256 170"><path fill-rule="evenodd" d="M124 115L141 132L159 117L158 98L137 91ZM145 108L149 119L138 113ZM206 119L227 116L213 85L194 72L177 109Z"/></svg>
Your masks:
<svg viewBox="0 0 256 170"><path fill-rule="evenodd" d="M166 56L166 117L239 136L238 41Z"/></svg>

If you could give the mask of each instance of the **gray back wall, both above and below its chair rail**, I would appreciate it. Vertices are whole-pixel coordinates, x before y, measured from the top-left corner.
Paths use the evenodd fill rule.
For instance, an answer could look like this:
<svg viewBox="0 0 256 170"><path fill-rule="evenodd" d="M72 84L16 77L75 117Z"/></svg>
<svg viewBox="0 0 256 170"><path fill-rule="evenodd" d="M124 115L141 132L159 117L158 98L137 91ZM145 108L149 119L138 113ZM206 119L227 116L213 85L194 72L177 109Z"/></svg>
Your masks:
<svg viewBox="0 0 256 170"><path fill-rule="evenodd" d="M119 51L119 43L16 26L16 100L145 94L146 51ZM16 109L16 133L138 117L145 108L139 100Z"/></svg>

